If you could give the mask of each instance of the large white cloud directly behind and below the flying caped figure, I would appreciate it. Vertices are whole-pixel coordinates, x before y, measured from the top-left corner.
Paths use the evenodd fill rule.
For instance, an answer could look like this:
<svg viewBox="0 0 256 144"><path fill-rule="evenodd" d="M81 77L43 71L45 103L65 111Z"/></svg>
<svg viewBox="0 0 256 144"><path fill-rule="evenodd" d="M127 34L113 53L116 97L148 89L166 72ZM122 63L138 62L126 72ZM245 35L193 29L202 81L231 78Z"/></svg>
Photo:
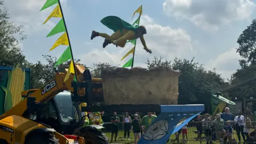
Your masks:
<svg viewBox="0 0 256 144"><path fill-rule="evenodd" d="M140 24L147 29L145 41L147 47L151 49L153 53L147 53L138 39L134 66L146 67L145 62L147 58L151 59L154 56L163 56L167 59L173 59L174 57L185 57L186 54L192 52L191 38L185 30L161 26L146 14L143 14L141 17ZM80 59L82 63L108 62L112 65L123 65L131 58L131 55L123 61L120 60L132 46L133 45L129 43L122 49L120 47L116 48L115 46L107 46L104 50L93 49L91 52L81 55ZM115 52L109 52L111 50Z"/></svg>

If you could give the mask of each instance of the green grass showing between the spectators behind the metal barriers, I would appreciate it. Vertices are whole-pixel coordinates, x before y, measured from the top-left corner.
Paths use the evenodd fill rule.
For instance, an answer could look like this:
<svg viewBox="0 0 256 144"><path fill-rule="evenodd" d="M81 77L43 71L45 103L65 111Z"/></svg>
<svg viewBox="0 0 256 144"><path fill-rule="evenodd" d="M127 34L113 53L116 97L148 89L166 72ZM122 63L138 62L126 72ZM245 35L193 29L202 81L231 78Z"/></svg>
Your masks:
<svg viewBox="0 0 256 144"><path fill-rule="evenodd" d="M190 144L199 143L199 141L195 141L196 138L197 138L197 134L194 131L196 131L196 127L188 127L188 141L189 141ZM107 135L107 137L110 140L111 133L107 132L105 134ZM204 138L204 134L202 134L202 137ZM233 131L233 138L235 138L238 141L236 131ZM173 140L173 139L175 139L174 134L172 134L171 137L170 137L170 140ZM180 142L181 142L181 140L182 140L182 134L180 134ZM243 141L242 135L241 135L241 140ZM111 143L134 143L133 133L130 132L130 140L127 140L127 138L126 138L126 140L124 140L124 131L118 131L117 141L116 142L113 141ZM172 142L169 142L169 143L172 143ZM175 143L177 143L177 141L175 141ZM202 143L206 143L204 139L203 139ZM219 143L219 142L216 141L214 143Z"/></svg>

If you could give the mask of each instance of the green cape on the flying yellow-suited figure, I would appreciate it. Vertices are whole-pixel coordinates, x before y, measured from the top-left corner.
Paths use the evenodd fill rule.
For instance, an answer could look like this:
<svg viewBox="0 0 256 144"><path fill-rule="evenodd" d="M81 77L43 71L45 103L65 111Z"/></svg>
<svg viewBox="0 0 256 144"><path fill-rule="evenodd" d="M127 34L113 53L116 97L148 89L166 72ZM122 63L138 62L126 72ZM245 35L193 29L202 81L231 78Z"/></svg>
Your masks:
<svg viewBox="0 0 256 144"><path fill-rule="evenodd" d="M136 33L137 28L139 28L139 26L132 26L130 23L122 20L121 18L118 18L116 16L108 16L103 18L100 21L103 25L105 25L106 27L108 27L109 29L114 30L115 32L117 30L120 30L122 32L122 29L127 29L127 30L132 30Z"/></svg>

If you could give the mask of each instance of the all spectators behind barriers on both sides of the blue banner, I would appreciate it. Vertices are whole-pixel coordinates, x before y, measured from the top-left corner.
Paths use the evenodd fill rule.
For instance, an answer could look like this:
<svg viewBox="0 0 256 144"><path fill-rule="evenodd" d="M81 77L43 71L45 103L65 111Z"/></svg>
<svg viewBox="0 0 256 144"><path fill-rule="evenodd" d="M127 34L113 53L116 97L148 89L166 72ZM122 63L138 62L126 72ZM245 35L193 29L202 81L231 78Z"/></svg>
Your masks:
<svg viewBox="0 0 256 144"><path fill-rule="evenodd" d="M120 122L117 113L113 113L111 117L111 141L113 141L115 135L115 141L118 135L118 123ZM139 113L133 114L133 119L126 112L123 117L123 130L124 139L130 140L130 132L133 132L134 143L140 139L143 132L146 132L148 126L156 118L156 114L148 112L148 115L140 118ZM219 140L220 143L233 143L236 139L233 137L234 130L237 134L237 139L241 142L241 138L244 142L256 142L256 125L253 126L250 117L243 116L241 111L238 111L237 116L233 116L229 112L229 108L225 108L225 113L216 114L212 117L209 114L205 114L204 118L198 115L193 123L196 123L197 138L202 143L202 134L205 134L206 143L212 143L214 140ZM175 140L179 142L179 136L182 134L182 141L188 142L188 124L181 127L181 129L175 133ZM186 139L185 139L186 138ZM174 140L174 141L175 141Z"/></svg>

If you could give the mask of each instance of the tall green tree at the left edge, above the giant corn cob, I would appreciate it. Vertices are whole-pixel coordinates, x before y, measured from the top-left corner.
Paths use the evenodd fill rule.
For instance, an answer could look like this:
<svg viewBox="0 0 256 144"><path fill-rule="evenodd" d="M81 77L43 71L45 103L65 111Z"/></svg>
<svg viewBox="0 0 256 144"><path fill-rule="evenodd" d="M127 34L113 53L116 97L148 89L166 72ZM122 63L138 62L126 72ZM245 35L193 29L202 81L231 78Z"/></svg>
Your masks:
<svg viewBox="0 0 256 144"><path fill-rule="evenodd" d="M15 36L20 36L20 40L25 38L22 26L14 25L10 21L10 17L4 2L0 0L0 65L13 67L17 63L23 66L27 61L25 55L19 47L19 42Z"/></svg>

